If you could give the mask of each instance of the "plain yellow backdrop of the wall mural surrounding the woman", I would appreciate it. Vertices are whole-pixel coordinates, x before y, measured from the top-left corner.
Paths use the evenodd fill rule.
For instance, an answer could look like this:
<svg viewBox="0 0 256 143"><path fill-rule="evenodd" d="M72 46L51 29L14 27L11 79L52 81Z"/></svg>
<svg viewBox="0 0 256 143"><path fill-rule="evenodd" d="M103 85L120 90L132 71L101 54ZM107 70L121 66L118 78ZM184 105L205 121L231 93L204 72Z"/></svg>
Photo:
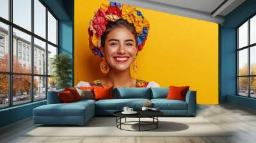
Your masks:
<svg viewBox="0 0 256 143"><path fill-rule="evenodd" d="M94 11L108 1L75 0L75 85L103 76L100 58L88 47L88 26ZM218 104L218 24L138 8L150 22L148 38L138 53L134 78L161 87L190 86L199 104Z"/></svg>

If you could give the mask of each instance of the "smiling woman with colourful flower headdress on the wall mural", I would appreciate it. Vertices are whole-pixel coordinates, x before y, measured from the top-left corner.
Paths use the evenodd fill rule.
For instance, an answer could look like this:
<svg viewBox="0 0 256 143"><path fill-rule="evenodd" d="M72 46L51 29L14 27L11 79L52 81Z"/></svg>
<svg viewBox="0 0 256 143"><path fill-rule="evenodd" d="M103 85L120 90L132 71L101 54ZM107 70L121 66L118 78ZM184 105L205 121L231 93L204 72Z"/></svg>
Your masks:
<svg viewBox="0 0 256 143"><path fill-rule="evenodd" d="M147 40L149 23L133 6L102 4L88 28L93 54L102 58L100 70L105 76L79 86L159 87L156 82L134 79L130 68L138 71L136 57Z"/></svg>

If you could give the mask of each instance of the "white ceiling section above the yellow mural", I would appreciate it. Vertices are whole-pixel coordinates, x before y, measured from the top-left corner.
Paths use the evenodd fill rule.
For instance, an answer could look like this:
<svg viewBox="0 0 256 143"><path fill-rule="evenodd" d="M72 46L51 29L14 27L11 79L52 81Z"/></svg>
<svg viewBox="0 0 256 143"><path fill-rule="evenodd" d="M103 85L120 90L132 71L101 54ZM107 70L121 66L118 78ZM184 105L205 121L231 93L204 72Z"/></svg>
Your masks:
<svg viewBox="0 0 256 143"><path fill-rule="evenodd" d="M223 24L225 15L245 0L112 0L150 10ZM222 5L221 5L222 4ZM221 5L221 6L220 6Z"/></svg>

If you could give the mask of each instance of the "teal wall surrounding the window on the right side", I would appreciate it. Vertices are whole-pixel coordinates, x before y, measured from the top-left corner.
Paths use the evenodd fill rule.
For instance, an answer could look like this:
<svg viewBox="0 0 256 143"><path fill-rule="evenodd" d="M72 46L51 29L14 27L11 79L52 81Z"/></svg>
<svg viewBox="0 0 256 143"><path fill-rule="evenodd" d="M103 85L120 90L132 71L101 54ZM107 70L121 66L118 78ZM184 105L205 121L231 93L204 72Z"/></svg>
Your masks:
<svg viewBox="0 0 256 143"><path fill-rule="evenodd" d="M228 13L220 28L221 33L221 73L220 73L220 102L234 103L255 109L256 100L237 96L237 52L236 27L256 14L256 0L247 0L235 10Z"/></svg>

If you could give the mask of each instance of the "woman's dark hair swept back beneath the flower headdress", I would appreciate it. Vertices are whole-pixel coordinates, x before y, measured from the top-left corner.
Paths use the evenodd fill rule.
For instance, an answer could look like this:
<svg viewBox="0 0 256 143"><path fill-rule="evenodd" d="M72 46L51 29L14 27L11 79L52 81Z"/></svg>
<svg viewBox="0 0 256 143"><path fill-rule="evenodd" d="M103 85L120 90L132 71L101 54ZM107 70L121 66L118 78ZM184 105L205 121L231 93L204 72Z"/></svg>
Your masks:
<svg viewBox="0 0 256 143"><path fill-rule="evenodd" d="M126 27L134 35L136 46L138 47L138 36L135 27L124 19L118 19L115 22L109 21L106 26L106 31L100 37L101 46L104 47L107 35L116 27Z"/></svg>

